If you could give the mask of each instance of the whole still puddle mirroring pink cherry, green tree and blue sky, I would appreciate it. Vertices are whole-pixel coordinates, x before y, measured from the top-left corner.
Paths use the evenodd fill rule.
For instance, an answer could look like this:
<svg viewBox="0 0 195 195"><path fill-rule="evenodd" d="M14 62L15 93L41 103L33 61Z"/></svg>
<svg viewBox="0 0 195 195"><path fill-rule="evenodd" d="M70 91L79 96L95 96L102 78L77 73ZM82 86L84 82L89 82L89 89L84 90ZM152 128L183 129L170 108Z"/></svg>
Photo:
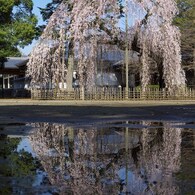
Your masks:
<svg viewBox="0 0 195 195"><path fill-rule="evenodd" d="M0 137L0 194L195 191L194 129L168 122L28 126L29 136Z"/></svg>

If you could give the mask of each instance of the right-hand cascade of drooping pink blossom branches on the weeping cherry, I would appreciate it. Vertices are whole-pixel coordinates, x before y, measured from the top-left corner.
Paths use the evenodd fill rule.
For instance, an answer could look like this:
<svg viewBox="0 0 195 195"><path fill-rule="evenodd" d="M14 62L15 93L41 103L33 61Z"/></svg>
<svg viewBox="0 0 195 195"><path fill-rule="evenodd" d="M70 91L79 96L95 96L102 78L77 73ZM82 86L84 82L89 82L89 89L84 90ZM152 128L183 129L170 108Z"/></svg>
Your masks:
<svg viewBox="0 0 195 195"><path fill-rule="evenodd" d="M157 62L162 71L165 88L169 92L185 86L185 74L181 68L180 32L172 24L178 12L174 0L143 0L147 20L139 29L142 49L141 83L143 89L150 81L150 58Z"/></svg>

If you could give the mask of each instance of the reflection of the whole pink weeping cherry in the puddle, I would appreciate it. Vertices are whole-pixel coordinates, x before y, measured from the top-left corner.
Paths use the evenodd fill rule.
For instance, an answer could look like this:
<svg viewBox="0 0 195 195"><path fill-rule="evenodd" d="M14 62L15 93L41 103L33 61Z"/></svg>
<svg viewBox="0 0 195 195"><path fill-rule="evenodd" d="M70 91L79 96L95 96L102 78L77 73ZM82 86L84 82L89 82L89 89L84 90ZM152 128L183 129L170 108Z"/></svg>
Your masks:
<svg viewBox="0 0 195 195"><path fill-rule="evenodd" d="M85 130L42 123L30 140L61 193L176 194L172 174L180 167L181 129L160 125Z"/></svg>

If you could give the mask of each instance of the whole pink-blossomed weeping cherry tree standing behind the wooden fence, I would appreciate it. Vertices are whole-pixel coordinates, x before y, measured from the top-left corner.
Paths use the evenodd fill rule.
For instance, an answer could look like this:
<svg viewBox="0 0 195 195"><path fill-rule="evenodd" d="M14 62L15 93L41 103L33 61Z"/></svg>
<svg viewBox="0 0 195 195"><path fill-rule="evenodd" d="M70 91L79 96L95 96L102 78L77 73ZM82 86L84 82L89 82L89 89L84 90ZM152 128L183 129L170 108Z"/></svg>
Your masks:
<svg viewBox="0 0 195 195"><path fill-rule="evenodd" d="M126 42L128 49L141 55L143 90L150 82L151 61L160 70L167 91L184 86L180 33L172 25L178 11L175 0L126 0L121 11L123 6L118 0L62 1L31 53L27 70L31 86L66 82L71 55L79 85L90 90L95 85L98 44L115 44L124 50ZM122 15L133 21L126 36L119 25Z"/></svg>

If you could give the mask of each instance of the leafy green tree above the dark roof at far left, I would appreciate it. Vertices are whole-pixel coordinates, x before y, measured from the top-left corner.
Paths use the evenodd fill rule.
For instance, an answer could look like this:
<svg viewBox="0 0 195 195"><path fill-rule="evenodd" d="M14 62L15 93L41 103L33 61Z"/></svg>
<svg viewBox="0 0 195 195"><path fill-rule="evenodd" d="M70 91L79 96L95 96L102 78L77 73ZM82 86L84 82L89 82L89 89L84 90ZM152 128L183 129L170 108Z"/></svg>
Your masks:
<svg viewBox="0 0 195 195"><path fill-rule="evenodd" d="M32 0L0 0L0 67L39 34Z"/></svg>

